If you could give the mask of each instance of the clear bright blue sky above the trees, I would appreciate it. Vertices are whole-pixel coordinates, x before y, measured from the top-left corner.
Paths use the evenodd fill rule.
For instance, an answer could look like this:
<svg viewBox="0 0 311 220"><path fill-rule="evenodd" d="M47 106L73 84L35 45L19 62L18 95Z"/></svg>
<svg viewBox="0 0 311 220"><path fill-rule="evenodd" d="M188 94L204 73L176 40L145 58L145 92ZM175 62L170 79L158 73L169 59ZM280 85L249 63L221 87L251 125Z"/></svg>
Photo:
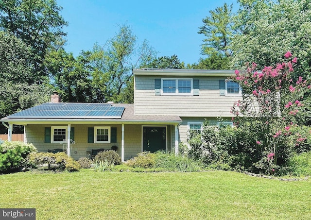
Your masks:
<svg viewBox="0 0 311 220"><path fill-rule="evenodd" d="M236 0L57 0L63 7L61 15L69 26L66 51L75 56L82 50L91 50L94 43L104 45L127 24L138 37L138 43L147 39L158 51L157 56L176 54L186 64L198 62L203 34L198 34L202 19L224 3Z"/></svg>

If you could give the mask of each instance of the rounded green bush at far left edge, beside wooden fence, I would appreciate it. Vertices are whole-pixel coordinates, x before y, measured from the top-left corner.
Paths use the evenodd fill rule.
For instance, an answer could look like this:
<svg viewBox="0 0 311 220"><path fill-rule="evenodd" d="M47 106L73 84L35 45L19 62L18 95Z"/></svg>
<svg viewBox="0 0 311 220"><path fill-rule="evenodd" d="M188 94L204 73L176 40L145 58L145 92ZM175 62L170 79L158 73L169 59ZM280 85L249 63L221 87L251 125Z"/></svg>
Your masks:
<svg viewBox="0 0 311 220"><path fill-rule="evenodd" d="M36 152L32 144L21 141L4 141L0 144L0 173L17 171L20 168L30 168L32 165L27 156Z"/></svg>

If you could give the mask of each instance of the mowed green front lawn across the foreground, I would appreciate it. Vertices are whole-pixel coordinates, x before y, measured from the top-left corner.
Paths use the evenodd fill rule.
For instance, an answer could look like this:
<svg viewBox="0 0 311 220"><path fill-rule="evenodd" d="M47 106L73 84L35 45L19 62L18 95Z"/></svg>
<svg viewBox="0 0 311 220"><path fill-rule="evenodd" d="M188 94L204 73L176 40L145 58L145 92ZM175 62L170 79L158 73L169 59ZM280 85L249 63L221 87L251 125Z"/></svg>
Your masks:
<svg viewBox="0 0 311 220"><path fill-rule="evenodd" d="M37 220L311 219L311 180L231 171L0 175L1 208L36 208Z"/></svg>

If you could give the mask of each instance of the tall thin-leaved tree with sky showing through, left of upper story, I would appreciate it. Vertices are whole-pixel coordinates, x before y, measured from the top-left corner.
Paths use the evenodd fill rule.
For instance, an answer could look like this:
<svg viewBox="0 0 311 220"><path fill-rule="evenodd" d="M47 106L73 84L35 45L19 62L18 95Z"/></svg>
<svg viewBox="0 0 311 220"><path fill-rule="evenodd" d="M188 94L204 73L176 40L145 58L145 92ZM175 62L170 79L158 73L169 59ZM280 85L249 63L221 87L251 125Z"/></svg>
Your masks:
<svg viewBox="0 0 311 220"><path fill-rule="evenodd" d="M95 44L90 57L94 68L92 80L103 101L132 102L133 69L148 65L154 58L155 50L146 40L139 46L137 37L127 25L121 25L119 32L104 46Z"/></svg>

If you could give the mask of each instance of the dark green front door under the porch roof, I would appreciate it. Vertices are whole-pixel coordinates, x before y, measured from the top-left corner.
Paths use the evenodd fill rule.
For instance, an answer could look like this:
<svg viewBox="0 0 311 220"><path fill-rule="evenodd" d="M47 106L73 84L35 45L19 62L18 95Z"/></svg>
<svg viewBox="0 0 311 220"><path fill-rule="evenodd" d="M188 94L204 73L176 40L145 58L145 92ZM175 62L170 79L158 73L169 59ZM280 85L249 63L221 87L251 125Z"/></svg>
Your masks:
<svg viewBox="0 0 311 220"><path fill-rule="evenodd" d="M142 151L166 151L166 127L143 127Z"/></svg>

